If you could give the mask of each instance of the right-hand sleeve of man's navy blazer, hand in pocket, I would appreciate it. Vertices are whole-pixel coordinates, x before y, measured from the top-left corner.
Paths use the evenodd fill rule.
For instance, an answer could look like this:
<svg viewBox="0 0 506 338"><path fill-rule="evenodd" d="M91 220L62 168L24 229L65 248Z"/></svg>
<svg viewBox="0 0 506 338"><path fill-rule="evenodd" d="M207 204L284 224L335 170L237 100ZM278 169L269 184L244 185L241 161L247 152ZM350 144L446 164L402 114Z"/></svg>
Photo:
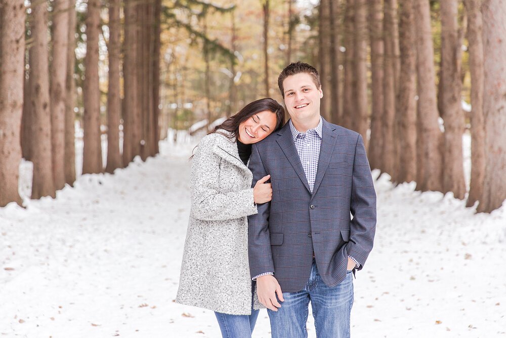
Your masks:
<svg viewBox="0 0 506 338"><path fill-rule="evenodd" d="M355 258L361 270L372 250L376 231L376 192L362 135L358 135L353 163L350 211L350 241L346 249Z"/></svg>

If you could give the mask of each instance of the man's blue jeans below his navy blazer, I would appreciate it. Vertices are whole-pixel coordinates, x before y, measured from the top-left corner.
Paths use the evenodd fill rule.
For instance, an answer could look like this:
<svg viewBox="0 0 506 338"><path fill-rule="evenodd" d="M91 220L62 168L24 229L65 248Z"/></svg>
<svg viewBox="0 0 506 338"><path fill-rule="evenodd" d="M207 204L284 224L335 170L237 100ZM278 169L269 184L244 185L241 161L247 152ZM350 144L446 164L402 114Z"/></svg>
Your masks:
<svg viewBox="0 0 506 338"><path fill-rule="evenodd" d="M278 311L267 310L273 338L307 338L309 302L313 309L318 338L349 338L350 312L353 305L353 274L334 287L321 279L313 259L306 287L299 292L283 292Z"/></svg>

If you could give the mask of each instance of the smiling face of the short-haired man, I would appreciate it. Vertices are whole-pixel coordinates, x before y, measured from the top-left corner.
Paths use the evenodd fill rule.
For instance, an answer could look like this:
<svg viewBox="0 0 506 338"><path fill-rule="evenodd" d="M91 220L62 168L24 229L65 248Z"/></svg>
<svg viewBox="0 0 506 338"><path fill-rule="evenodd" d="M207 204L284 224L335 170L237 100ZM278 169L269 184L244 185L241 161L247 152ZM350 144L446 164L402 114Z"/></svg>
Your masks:
<svg viewBox="0 0 506 338"><path fill-rule="evenodd" d="M290 75L283 81L284 103L294 120L307 120L320 115L321 87L317 88L308 73Z"/></svg>

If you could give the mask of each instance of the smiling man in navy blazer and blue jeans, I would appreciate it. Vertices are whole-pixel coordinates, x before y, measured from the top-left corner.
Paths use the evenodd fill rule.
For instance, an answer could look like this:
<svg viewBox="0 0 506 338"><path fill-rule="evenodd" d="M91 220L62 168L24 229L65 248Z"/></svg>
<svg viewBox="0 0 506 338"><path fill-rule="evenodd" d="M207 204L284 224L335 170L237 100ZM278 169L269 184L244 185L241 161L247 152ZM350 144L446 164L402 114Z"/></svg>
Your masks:
<svg viewBox="0 0 506 338"><path fill-rule="evenodd" d="M349 337L353 274L376 226L364 142L320 116L313 66L291 63L278 86L291 119L252 147L249 162L253 184L270 174L273 190L271 202L248 217L251 278L273 337L307 337L310 301L317 337Z"/></svg>

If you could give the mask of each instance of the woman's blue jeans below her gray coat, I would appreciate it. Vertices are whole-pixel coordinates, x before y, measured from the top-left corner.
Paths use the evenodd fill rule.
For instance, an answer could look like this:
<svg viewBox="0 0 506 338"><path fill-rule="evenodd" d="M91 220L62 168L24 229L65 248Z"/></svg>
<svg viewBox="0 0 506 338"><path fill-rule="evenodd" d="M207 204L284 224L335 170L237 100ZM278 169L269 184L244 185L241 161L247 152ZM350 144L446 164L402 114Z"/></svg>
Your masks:
<svg viewBox="0 0 506 338"><path fill-rule="evenodd" d="M254 284L251 285L251 293L253 290ZM259 311L260 310L253 309L252 296L250 315L229 315L227 313L215 311L223 338L250 338L255 328Z"/></svg>

